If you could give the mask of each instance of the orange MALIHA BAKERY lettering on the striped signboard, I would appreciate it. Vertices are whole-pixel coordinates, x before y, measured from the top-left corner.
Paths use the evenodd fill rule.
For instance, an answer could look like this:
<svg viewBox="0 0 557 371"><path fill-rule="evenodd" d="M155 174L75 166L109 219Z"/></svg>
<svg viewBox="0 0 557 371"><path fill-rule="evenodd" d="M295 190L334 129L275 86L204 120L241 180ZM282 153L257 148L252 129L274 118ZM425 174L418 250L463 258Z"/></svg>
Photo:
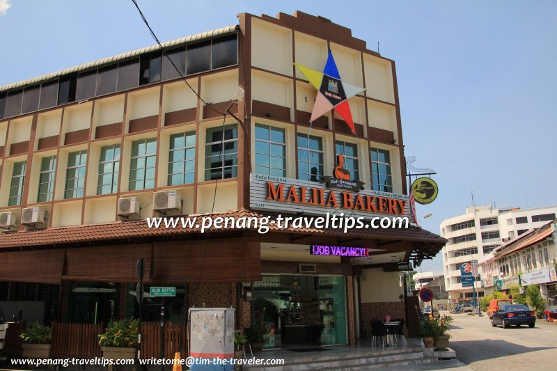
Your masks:
<svg viewBox="0 0 557 371"><path fill-rule="evenodd" d="M315 205L334 209L363 210L384 214L403 215L407 200L395 198L352 194L334 189L296 187L283 183L265 182L267 200L299 205Z"/></svg>

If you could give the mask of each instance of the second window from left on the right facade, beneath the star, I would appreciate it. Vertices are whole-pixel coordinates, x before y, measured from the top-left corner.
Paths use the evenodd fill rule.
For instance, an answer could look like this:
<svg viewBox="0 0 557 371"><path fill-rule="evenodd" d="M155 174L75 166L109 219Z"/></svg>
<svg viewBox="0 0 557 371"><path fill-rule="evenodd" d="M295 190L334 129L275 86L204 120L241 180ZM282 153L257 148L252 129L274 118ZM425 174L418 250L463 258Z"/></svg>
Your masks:
<svg viewBox="0 0 557 371"><path fill-rule="evenodd" d="M323 175L323 142L319 136L298 134L298 179L319 182Z"/></svg>

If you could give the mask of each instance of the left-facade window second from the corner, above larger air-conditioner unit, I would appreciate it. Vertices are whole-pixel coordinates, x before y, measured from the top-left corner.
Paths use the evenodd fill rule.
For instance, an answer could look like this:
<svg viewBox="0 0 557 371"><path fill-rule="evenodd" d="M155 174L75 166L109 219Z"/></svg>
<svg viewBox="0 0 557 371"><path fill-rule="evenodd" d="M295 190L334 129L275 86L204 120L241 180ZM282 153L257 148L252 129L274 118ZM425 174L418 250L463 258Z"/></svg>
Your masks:
<svg viewBox="0 0 557 371"><path fill-rule="evenodd" d="M196 132L170 136L168 185L193 183L196 168Z"/></svg>

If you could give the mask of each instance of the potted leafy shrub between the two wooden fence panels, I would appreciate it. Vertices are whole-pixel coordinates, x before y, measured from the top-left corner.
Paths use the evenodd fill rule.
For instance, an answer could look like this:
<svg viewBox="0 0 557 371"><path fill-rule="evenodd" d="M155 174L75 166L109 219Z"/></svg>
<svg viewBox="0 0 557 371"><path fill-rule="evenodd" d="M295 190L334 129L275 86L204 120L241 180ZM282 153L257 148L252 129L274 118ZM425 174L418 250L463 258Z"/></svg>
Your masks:
<svg viewBox="0 0 557 371"><path fill-rule="evenodd" d="M138 338L139 319L111 320L99 335L102 356L107 359L133 359Z"/></svg>

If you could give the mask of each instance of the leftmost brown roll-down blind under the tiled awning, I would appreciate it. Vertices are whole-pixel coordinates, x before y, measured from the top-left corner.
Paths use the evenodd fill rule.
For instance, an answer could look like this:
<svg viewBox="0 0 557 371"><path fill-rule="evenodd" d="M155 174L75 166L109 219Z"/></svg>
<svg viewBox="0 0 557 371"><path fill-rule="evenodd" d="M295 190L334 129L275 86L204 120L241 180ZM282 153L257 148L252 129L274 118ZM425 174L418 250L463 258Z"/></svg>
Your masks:
<svg viewBox="0 0 557 371"><path fill-rule="evenodd" d="M0 281L59 284L65 249L0 253Z"/></svg>

